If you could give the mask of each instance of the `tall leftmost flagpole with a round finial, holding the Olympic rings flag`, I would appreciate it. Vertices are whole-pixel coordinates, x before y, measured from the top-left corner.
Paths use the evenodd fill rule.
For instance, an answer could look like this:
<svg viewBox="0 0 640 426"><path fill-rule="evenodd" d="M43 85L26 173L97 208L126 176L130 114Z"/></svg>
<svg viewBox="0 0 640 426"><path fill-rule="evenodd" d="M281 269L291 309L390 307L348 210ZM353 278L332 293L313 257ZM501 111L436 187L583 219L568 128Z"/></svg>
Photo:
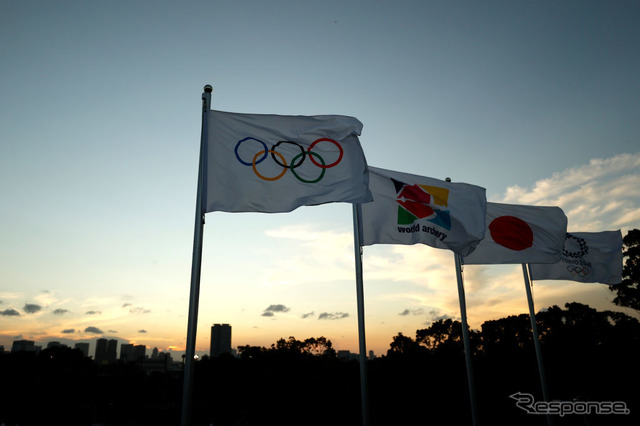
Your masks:
<svg viewBox="0 0 640 426"><path fill-rule="evenodd" d="M191 289L189 293L189 318L187 322L187 347L184 362L184 383L182 388L181 426L191 424L191 396L193 391L193 367L198 328L198 302L200 298L200 272L202 269L202 236L204 231L204 190L205 165L207 158L208 112L211 107L210 85L204 86L202 93L202 131L200 135L200 160L198 166L198 191L196 195L196 216L193 231L193 258L191 261Z"/></svg>

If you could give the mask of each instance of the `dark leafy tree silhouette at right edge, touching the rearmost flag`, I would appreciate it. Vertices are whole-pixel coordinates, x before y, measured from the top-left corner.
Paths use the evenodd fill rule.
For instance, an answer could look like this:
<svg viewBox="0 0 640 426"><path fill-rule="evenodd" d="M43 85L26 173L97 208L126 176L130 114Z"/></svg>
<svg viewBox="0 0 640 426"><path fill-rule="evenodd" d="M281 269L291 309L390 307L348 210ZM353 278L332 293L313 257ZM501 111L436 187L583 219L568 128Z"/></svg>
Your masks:
<svg viewBox="0 0 640 426"><path fill-rule="evenodd" d="M622 268L622 283L610 285L616 292L613 303L640 311L640 230L632 229L622 240L626 260Z"/></svg>

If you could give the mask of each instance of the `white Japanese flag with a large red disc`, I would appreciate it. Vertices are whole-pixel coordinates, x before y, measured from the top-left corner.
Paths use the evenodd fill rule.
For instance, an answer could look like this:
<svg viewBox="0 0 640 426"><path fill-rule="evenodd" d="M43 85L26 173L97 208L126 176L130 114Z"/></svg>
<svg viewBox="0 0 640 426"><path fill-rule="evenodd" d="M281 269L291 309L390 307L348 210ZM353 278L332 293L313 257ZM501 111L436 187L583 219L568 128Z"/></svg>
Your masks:
<svg viewBox="0 0 640 426"><path fill-rule="evenodd" d="M555 263L567 217L559 207L487 203L487 231L466 264Z"/></svg>

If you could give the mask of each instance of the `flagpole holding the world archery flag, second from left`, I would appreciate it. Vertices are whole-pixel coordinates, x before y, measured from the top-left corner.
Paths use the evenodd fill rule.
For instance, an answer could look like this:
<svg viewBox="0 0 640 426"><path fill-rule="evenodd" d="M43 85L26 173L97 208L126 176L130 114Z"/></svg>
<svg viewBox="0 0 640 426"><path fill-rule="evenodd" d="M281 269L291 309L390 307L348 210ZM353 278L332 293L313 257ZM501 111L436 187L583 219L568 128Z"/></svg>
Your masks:
<svg viewBox="0 0 640 426"><path fill-rule="evenodd" d="M362 424L369 426L369 385L367 383L367 344L364 331L364 285L362 279L362 245L360 238L360 204L353 204L353 246L356 263L356 297L358 305L358 337L360 360L360 396Z"/></svg>

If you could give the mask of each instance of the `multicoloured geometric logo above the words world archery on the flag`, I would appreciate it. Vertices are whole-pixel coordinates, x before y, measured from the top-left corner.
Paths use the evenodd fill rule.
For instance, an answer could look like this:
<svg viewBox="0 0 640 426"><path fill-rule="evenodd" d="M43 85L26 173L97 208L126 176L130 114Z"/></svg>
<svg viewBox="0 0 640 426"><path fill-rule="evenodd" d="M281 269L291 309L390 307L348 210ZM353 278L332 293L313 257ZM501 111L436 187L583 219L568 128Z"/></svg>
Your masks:
<svg viewBox="0 0 640 426"><path fill-rule="evenodd" d="M391 179L396 189L398 225L411 225L424 219L447 230L451 229L448 210L449 190L431 185L409 185Z"/></svg>

